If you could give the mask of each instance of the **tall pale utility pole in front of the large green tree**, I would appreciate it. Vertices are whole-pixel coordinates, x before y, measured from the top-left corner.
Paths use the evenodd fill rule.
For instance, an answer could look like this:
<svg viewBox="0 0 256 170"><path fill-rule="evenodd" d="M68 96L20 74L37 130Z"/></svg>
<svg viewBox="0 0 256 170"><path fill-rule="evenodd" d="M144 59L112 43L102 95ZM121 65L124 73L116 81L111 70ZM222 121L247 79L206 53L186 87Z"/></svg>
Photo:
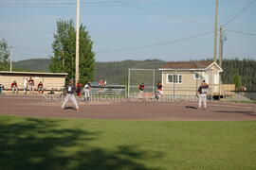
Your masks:
<svg viewBox="0 0 256 170"><path fill-rule="evenodd" d="M80 26L80 0L77 0L77 34L76 34L76 83L79 82L79 26Z"/></svg>

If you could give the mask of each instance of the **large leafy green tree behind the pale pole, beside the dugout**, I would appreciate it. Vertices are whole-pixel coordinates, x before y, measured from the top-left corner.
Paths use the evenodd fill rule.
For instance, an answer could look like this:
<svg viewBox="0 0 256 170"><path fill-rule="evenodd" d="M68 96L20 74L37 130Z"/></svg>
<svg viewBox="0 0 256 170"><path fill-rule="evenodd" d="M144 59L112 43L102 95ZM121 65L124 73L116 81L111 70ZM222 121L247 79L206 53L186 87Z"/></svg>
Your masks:
<svg viewBox="0 0 256 170"><path fill-rule="evenodd" d="M50 71L68 73L66 80L75 77L76 62L76 29L73 20L57 21L57 33L52 43L54 56L51 58ZM92 81L95 71L95 53L92 51L93 42L80 26L80 82Z"/></svg>

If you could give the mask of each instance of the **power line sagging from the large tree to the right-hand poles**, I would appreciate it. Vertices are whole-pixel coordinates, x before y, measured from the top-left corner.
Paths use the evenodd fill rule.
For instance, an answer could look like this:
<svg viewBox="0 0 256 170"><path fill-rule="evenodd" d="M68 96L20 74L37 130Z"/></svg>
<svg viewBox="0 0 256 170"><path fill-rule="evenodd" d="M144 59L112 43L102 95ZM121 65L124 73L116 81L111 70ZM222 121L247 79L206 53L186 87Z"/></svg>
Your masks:
<svg viewBox="0 0 256 170"><path fill-rule="evenodd" d="M121 49L115 49L115 50L101 50L101 51L96 51L96 52L97 53L113 53L113 52L123 52L123 51L131 51L131 50L139 50L139 49L144 49L144 48L151 48L151 47L171 44L171 43L175 43L175 42L189 41L189 40L192 40L192 39L195 39L195 38L210 35L213 32L214 31L210 31L210 32L206 32L206 33L203 33L203 34L198 34L198 35L194 35L194 36L191 36L191 37L187 37L187 38L183 38L183 39L177 39L177 40L169 41L169 42L159 42L159 43L154 43L154 44L150 44L150 45L142 45L142 46L137 46L137 47L121 48Z"/></svg>

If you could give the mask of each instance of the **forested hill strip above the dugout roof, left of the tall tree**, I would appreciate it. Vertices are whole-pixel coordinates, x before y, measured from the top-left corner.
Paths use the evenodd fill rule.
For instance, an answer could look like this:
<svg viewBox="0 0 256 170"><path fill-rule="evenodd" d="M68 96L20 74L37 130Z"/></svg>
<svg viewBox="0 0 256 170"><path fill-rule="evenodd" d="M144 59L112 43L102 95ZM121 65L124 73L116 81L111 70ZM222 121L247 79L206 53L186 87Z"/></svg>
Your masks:
<svg viewBox="0 0 256 170"><path fill-rule="evenodd" d="M49 72L49 63L50 59L19 60L13 62L13 68L33 72Z"/></svg>

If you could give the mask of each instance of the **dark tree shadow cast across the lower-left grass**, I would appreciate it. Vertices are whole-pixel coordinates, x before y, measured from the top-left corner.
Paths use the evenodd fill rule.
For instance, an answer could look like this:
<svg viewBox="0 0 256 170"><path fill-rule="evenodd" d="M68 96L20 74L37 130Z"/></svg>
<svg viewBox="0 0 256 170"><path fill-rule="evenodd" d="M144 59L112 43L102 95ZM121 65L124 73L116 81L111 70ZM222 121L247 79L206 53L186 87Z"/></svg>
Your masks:
<svg viewBox="0 0 256 170"><path fill-rule="evenodd" d="M26 118L0 120L0 169L141 169L141 161L161 154L139 151L137 146L119 145L112 150L89 146L100 132L58 128L62 121Z"/></svg>

